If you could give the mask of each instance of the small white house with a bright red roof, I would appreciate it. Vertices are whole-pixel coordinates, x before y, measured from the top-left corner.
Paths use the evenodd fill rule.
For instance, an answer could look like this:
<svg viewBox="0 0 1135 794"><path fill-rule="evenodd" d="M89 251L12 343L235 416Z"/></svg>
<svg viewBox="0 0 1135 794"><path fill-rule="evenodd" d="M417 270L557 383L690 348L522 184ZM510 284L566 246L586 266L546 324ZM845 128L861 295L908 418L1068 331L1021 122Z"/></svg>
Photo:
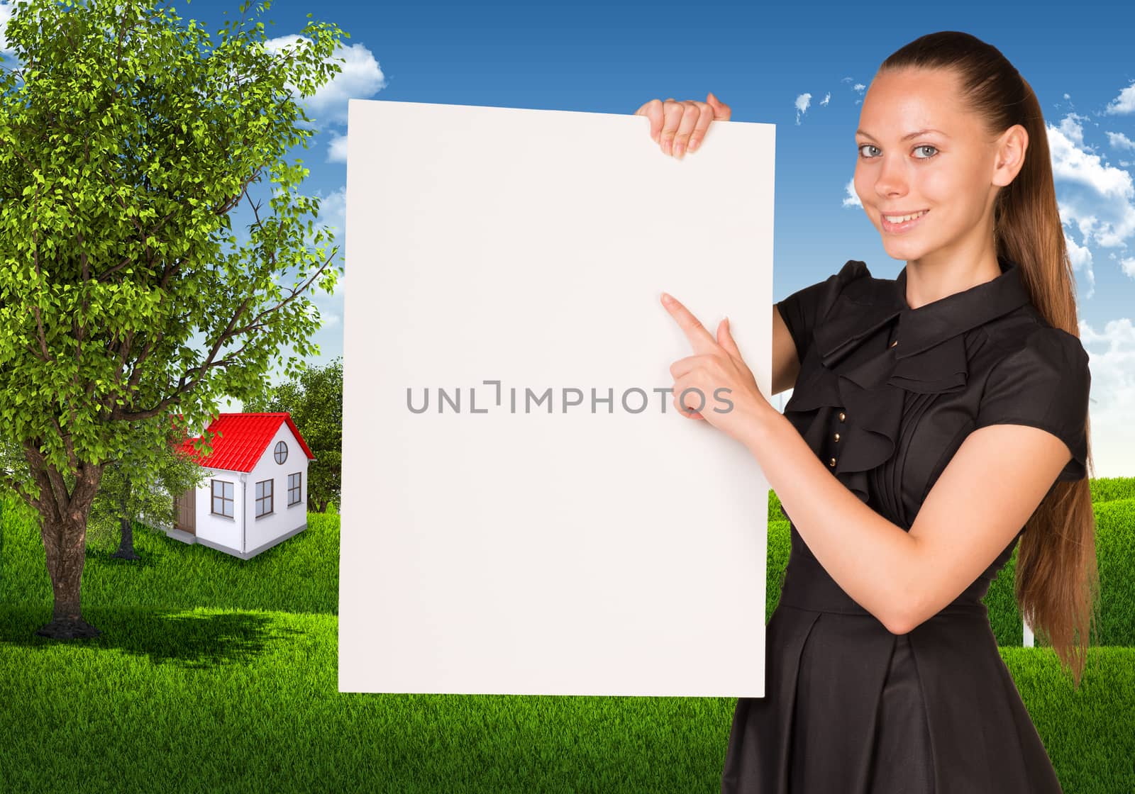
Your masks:
<svg viewBox="0 0 1135 794"><path fill-rule="evenodd" d="M308 463L314 461L288 413L218 414L202 457L187 438L182 449L208 470L200 487L175 500L170 538L241 559L255 557L308 527Z"/></svg>

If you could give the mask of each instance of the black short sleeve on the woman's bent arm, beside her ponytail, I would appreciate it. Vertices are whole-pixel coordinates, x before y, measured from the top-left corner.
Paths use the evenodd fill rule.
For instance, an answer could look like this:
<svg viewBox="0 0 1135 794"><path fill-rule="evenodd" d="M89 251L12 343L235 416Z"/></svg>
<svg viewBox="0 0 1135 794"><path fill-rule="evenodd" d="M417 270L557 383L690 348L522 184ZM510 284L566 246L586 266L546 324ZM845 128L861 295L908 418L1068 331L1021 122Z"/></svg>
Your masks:
<svg viewBox="0 0 1135 794"><path fill-rule="evenodd" d="M977 428L1027 424L1054 434L1071 451L1058 481L1087 476L1087 397L1092 374L1079 339L1036 329L1019 350L993 366L977 409Z"/></svg>

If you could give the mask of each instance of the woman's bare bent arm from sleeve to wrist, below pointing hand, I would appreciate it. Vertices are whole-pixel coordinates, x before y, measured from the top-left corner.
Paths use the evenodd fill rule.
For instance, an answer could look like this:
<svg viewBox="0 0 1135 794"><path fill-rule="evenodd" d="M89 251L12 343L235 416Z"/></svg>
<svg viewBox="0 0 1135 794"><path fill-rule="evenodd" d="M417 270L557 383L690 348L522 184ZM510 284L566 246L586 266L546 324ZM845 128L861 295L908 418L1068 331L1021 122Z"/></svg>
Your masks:
<svg viewBox="0 0 1135 794"><path fill-rule="evenodd" d="M972 432L907 533L859 500L774 407L742 442L824 569L894 634L956 599L1020 532L1070 455L1057 436L999 424ZM1012 472L1012 476L1006 476Z"/></svg>

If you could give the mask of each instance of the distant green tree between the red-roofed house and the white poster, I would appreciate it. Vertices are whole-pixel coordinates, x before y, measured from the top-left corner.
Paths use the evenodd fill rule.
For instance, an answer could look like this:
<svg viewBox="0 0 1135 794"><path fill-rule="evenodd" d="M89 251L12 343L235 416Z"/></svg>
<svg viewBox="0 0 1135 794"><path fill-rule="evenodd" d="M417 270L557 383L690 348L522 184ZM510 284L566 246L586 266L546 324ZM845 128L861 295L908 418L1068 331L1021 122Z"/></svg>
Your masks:
<svg viewBox="0 0 1135 794"><path fill-rule="evenodd" d="M339 507L343 491L343 360L327 366L305 366L300 380L289 380L260 399L244 404L247 412L286 411L316 459L308 465L308 504L326 513Z"/></svg>

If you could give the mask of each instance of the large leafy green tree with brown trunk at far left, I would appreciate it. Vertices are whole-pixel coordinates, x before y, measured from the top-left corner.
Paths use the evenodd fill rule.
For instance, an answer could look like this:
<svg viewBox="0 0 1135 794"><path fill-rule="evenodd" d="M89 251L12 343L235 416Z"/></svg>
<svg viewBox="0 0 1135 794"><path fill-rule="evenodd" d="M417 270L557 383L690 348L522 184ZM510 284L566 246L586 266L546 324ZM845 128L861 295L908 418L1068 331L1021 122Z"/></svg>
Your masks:
<svg viewBox="0 0 1135 794"><path fill-rule="evenodd" d="M314 134L300 98L342 69L343 34L309 19L274 54L247 8L216 43L140 0L31 0L8 23L22 66L0 79L0 438L26 465L0 488L40 517L47 636L99 634L79 605L87 517L109 462L163 454L135 442L138 422L202 426L222 396L254 399L285 345L319 352L304 293L334 292L339 268L285 153ZM262 212L249 188L264 176Z"/></svg>

